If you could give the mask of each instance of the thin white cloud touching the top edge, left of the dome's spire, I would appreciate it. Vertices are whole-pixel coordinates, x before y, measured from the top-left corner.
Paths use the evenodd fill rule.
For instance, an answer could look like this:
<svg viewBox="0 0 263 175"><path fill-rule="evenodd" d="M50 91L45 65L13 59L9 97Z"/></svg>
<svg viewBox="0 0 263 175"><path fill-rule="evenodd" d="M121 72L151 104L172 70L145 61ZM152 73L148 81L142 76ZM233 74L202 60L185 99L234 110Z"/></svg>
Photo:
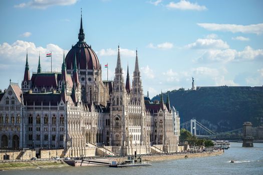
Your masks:
<svg viewBox="0 0 263 175"><path fill-rule="evenodd" d="M32 8L48 8L55 5L72 5L75 4L77 0L30 0L28 2L23 2L15 5L16 8L32 7Z"/></svg>

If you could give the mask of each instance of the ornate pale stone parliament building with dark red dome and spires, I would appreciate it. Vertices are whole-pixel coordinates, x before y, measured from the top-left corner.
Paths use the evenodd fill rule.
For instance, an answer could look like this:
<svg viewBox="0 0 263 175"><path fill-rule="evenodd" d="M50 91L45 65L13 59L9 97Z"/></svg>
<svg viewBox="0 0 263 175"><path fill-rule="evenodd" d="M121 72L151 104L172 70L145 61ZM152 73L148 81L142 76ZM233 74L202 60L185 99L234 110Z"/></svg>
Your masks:
<svg viewBox="0 0 263 175"><path fill-rule="evenodd" d="M138 154L139 147L140 153L178 151L178 111L168 96L144 96L137 50L131 80L129 67L124 79L119 47L114 80L103 80L82 17L78 39L64 54L61 72L42 71L39 57L31 76L27 53L21 87L10 80L0 91L0 147L63 149L74 157L91 147L115 155Z"/></svg>

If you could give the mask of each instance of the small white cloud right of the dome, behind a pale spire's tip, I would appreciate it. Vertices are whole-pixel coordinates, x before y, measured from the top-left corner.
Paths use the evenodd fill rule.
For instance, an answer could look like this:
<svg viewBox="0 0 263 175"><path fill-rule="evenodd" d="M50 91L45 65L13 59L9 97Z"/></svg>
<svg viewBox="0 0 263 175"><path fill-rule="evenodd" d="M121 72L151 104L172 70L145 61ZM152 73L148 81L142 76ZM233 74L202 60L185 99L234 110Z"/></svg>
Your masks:
<svg viewBox="0 0 263 175"><path fill-rule="evenodd" d="M106 48L101 49L97 51L100 56L117 56L118 55L118 49L112 49L112 48ZM128 48L121 48L120 47L120 54L121 57L134 57L136 55L134 50L130 50Z"/></svg>

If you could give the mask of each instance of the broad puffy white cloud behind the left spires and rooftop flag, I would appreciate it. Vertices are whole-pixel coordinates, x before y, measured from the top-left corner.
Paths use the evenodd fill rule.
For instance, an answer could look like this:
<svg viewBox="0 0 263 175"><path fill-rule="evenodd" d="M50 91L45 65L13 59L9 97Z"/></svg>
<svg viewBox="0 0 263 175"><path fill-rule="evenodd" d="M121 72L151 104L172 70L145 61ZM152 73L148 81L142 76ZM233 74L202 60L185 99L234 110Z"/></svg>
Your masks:
<svg viewBox="0 0 263 175"><path fill-rule="evenodd" d="M50 58L46 58L46 53L52 51L53 70L61 71L61 64L63 61L63 49L61 47L52 43L47 44L46 47L37 47L34 42L23 40L17 40L13 44L7 42L0 44L0 67L10 68L18 64L24 65L26 63L27 49L31 70L37 70L40 52L42 70L50 71ZM65 50L65 54L67 52L68 50Z"/></svg>

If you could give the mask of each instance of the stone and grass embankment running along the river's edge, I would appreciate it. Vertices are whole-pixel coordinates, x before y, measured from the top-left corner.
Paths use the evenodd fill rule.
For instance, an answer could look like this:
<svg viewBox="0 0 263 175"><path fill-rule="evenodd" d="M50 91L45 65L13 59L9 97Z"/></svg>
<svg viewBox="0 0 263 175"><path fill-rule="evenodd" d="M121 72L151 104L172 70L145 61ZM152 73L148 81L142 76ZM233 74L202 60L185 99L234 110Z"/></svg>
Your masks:
<svg viewBox="0 0 263 175"><path fill-rule="evenodd" d="M217 148L207 148L205 151L198 150L198 151L182 151L182 152L176 152L176 153L156 153L156 154L141 154L137 155L138 157L141 157L142 160L149 160L149 161L156 161L156 160L165 160L165 159L182 159L182 158L194 158L194 157L204 157L204 156L213 156L213 155L220 155L223 154L223 149L217 149ZM135 156L135 155L134 155ZM66 164L63 164L66 162L69 165L72 166L93 166L93 165L108 165L112 161L121 161L123 159L127 159L127 156L121 156L121 155L107 155L107 156L89 156L89 157L75 157L71 160L56 160L56 162L61 162L62 165L59 165L58 163L54 163L54 160L49 158L37 158L36 160L30 160L30 159L21 159L21 160L2 160L0 161L0 169L18 169L18 168L36 168L36 166L28 166L28 164L23 164L21 162L32 162L34 164L41 164L41 167L61 167L65 166ZM43 161L43 163L41 163ZM83 163L83 161L87 161L89 163ZM36 163L39 162L39 163ZM11 163L14 165L8 165L5 163ZM16 166L15 164L20 164ZM43 165L44 164L44 165ZM10 166L10 167L9 167ZM38 167L38 166L37 166Z"/></svg>

